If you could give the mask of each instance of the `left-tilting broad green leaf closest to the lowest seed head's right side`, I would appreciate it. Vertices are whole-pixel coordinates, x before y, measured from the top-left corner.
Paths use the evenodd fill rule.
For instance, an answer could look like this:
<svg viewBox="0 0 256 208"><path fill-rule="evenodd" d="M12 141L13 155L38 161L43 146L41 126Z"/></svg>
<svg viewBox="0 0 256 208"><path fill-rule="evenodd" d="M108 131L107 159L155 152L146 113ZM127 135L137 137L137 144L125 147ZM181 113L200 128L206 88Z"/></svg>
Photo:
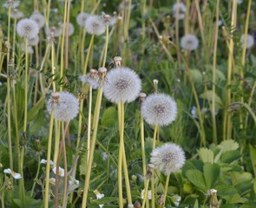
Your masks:
<svg viewBox="0 0 256 208"><path fill-rule="evenodd" d="M203 173L198 170L188 170L186 172L187 179L197 186L201 192L207 192L207 185L203 177Z"/></svg>

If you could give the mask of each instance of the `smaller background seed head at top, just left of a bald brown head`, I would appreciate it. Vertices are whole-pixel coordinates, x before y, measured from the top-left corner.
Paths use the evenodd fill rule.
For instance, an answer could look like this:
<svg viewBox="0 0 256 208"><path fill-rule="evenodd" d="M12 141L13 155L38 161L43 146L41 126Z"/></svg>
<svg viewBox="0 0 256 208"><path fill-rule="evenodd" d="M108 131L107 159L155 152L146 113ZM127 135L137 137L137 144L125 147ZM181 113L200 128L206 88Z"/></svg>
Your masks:
<svg viewBox="0 0 256 208"><path fill-rule="evenodd" d="M106 26L101 16L89 16L85 21L85 29L89 34L100 36L105 32Z"/></svg>

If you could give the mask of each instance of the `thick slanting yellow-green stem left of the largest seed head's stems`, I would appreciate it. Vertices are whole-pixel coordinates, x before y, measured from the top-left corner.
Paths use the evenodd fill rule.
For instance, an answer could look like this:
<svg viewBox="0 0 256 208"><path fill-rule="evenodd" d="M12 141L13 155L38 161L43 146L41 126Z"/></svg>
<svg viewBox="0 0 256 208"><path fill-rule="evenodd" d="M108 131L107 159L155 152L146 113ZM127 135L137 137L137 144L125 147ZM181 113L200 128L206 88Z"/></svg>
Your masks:
<svg viewBox="0 0 256 208"><path fill-rule="evenodd" d="M91 140L89 162L88 162L88 166L87 166L85 184L84 184L83 194L82 194L82 208L86 207L87 198L88 198L89 179L90 179L90 174L91 174L91 169L92 169L92 164L93 164L93 158L94 158L94 152L95 152L95 141L96 141L96 137L97 137L97 130L98 130L98 124L99 124L99 117L100 117L100 108L101 108L101 104L102 104L102 87L100 87L98 89L97 100L98 100L98 102L96 102L96 106L95 106L95 121L96 122L95 122L93 137ZM98 110L96 111L96 109L98 109Z"/></svg>

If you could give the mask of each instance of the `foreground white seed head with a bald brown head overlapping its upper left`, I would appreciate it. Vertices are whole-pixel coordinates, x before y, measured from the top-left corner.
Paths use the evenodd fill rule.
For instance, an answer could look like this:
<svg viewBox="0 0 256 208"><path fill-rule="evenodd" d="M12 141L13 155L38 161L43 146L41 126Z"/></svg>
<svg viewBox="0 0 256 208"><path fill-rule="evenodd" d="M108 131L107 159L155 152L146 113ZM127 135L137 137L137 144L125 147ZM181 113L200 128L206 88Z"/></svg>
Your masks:
<svg viewBox="0 0 256 208"><path fill-rule="evenodd" d="M52 93L47 103L49 114L54 111L56 120L69 121L75 118L79 111L79 102L68 92Z"/></svg>

